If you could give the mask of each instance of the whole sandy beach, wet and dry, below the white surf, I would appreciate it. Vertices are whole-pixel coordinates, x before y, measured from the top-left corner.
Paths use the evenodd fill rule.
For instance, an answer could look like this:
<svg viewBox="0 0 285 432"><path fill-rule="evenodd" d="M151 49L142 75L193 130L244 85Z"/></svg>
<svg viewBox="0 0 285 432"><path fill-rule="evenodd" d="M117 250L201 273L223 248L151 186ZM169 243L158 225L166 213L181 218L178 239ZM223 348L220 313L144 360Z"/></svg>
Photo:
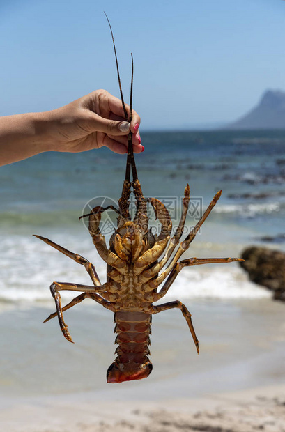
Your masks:
<svg viewBox="0 0 285 432"><path fill-rule="evenodd" d="M270 298L193 302L194 316L203 316L199 356L184 322L170 324L166 314L154 323L153 373L121 385L105 382L114 345L93 346L95 339L103 346L107 332L111 341L109 315L100 315L93 339L91 333L84 338L100 309L83 309L68 320L70 328L77 325L74 345L56 332L56 322L45 340L49 329L39 323L47 305L2 311L1 431L285 431L283 304Z"/></svg>

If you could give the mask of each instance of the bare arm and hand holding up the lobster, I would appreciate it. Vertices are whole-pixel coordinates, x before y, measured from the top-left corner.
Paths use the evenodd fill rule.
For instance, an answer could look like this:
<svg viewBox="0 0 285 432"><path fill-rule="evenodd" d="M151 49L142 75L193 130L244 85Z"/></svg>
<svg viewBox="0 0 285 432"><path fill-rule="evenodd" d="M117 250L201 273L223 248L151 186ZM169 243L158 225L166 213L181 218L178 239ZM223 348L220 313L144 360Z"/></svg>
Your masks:
<svg viewBox="0 0 285 432"><path fill-rule="evenodd" d="M128 105L126 109L129 114ZM77 153L107 146L115 153L127 153L130 131L134 153L141 153L139 124L134 110L132 122L127 123L121 100L105 90L52 111L0 117L0 165L45 151Z"/></svg>

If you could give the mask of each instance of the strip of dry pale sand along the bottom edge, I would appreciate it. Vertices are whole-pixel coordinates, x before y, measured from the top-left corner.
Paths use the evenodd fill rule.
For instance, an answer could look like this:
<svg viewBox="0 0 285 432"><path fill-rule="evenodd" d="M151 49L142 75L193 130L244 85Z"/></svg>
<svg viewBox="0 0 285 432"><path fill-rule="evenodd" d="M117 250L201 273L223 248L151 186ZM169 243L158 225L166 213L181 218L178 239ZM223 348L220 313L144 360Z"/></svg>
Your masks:
<svg viewBox="0 0 285 432"><path fill-rule="evenodd" d="M284 432L285 383L200 399L98 401L73 394L1 401L5 432Z"/></svg>

